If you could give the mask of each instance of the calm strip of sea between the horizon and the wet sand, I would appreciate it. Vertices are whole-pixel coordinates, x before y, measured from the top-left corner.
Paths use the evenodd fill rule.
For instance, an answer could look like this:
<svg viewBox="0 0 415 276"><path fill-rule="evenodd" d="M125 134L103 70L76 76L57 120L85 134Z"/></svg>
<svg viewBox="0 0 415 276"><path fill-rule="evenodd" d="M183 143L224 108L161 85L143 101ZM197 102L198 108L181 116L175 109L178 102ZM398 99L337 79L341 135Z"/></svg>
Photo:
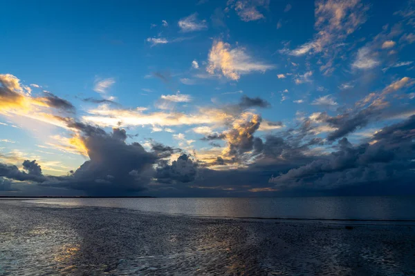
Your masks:
<svg viewBox="0 0 415 276"><path fill-rule="evenodd" d="M208 217L415 220L415 197L68 198L33 202Z"/></svg>

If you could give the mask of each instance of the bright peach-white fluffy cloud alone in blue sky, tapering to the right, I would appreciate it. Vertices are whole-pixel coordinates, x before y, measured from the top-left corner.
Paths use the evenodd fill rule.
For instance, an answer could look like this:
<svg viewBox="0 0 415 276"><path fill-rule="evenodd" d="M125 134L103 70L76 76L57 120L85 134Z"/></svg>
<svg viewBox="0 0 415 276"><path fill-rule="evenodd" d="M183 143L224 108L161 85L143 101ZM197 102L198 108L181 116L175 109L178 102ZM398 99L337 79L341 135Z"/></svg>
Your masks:
<svg viewBox="0 0 415 276"><path fill-rule="evenodd" d="M211 75L221 73L228 79L237 81L241 75L250 72L265 72L275 66L255 61L245 52L244 48L230 48L230 44L223 41L214 41L209 52L209 64L206 69Z"/></svg>

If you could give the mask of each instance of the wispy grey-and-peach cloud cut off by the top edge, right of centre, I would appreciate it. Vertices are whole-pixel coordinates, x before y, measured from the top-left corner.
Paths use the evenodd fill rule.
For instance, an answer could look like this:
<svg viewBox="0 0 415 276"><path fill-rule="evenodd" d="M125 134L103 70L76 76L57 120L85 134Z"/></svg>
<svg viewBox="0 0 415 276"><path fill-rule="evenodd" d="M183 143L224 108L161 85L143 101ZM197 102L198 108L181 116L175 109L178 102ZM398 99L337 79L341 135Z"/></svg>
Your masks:
<svg viewBox="0 0 415 276"><path fill-rule="evenodd" d="M239 0L228 1L228 6L234 8L242 21L256 21L259 19L265 19L264 14L259 12L258 8L268 8L269 0Z"/></svg>

